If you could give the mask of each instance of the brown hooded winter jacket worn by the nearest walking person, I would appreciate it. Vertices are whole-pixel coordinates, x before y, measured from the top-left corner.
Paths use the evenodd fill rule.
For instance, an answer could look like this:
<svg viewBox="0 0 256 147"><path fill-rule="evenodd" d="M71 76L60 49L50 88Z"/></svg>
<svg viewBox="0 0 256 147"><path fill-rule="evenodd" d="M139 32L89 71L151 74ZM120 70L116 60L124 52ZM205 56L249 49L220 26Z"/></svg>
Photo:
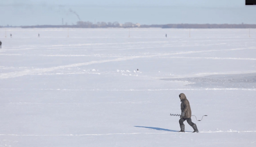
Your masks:
<svg viewBox="0 0 256 147"><path fill-rule="evenodd" d="M187 100L186 95L184 93L181 93L179 97L181 99L181 104L180 104L181 112L185 113L185 115L181 118L184 118L184 119L191 118L191 109L189 105L189 100Z"/></svg>

